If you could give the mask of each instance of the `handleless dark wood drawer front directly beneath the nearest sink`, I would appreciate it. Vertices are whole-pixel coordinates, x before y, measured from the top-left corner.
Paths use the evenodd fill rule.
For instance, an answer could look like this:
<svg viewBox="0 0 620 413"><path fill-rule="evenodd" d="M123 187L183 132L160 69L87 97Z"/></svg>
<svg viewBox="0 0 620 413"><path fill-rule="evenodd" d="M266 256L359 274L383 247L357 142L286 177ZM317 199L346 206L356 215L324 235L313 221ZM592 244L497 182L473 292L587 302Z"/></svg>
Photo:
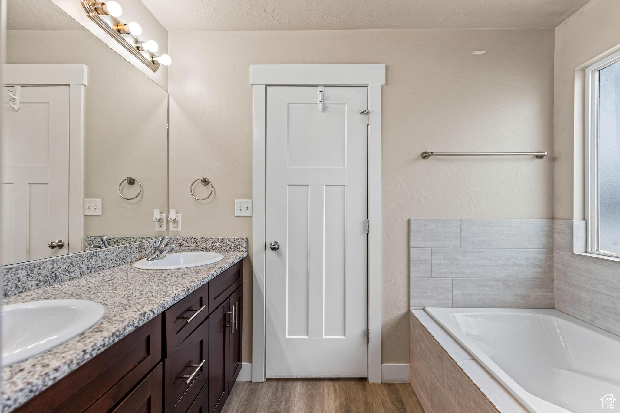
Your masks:
<svg viewBox="0 0 620 413"><path fill-rule="evenodd" d="M109 411L161 360L161 324L161 315L158 315L31 399L17 412Z"/></svg>

